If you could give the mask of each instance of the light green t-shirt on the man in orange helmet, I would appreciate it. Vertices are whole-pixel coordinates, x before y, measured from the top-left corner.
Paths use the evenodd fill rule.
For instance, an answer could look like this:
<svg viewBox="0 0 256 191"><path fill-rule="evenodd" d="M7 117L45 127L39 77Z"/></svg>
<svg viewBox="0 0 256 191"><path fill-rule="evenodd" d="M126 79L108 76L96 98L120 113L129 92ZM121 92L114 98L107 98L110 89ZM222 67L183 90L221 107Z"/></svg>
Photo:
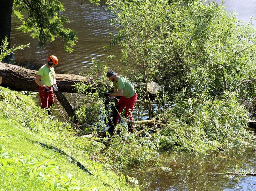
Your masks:
<svg viewBox="0 0 256 191"><path fill-rule="evenodd" d="M41 68L39 68L38 70L38 75L42 76L41 77L41 82L46 85L51 87L53 85L53 75L55 74L54 68L51 68L51 72L50 68L47 67L47 65L43 65Z"/></svg>

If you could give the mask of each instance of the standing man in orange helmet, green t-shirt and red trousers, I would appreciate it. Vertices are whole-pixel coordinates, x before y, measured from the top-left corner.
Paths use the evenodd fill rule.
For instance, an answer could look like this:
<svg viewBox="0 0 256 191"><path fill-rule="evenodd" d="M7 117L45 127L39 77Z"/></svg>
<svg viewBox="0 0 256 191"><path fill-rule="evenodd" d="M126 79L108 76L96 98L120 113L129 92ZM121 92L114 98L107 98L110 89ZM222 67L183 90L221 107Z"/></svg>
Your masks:
<svg viewBox="0 0 256 191"><path fill-rule="evenodd" d="M59 60L56 56L51 55L48 58L48 63L44 64L36 75L35 82L39 85L39 96L41 98L41 108L47 109L48 114L51 114L50 107L54 106L53 91L58 91L55 79L54 67Z"/></svg>

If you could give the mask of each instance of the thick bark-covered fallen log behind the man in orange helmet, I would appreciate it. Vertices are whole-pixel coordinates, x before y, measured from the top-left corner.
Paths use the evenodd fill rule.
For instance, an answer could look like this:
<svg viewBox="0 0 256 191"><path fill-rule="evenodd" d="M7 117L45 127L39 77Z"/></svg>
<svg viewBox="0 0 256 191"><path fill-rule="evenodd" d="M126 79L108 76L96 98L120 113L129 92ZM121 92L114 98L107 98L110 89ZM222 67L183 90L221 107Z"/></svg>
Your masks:
<svg viewBox="0 0 256 191"><path fill-rule="evenodd" d="M18 65L6 64L0 62L0 76L2 76L1 86L8 87L14 91L37 91L38 85L35 82L36 70L22 68ZM94 79L87 76L74 74L55 73L56 83L61 92L77 93L74 89L75 83L83 82L88 85Z"/></svg>

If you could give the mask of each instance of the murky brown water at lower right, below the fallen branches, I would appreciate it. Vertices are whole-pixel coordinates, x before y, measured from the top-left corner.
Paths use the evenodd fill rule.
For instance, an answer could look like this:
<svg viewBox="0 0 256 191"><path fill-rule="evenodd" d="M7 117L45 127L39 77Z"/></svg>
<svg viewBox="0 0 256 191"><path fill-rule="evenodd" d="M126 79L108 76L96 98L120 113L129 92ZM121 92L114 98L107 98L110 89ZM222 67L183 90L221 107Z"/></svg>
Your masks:
<svg viewBox="0 0 256 191"><path fill-rule="evenodd" d="M234 169L253 170L255 150L241 149L194 156L192 153L163 153L161 165L134 169L127 174L144 191L245 191L256 190L255 176L220 174ZM153 166L153 168L152 168Z"/></svg>

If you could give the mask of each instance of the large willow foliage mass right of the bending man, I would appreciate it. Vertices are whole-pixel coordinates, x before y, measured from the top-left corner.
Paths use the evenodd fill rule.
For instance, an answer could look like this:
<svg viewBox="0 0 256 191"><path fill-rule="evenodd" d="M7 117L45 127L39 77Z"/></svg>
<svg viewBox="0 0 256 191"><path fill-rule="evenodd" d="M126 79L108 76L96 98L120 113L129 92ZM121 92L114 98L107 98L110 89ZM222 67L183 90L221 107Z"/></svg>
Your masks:
<svg viewBox="0 0 256 191"><path fill-rule="evenodd" d="M255 96L255 28L205 1L107 1L130 79L161 86L158 123L137 126L157 148L202 152L240 145ZM248 83L250 82L250 83ZM140 89L138 89L138 92ZM163 123L164 122L164 123ZM247 140L247 141L246 141Z"/></svg>

